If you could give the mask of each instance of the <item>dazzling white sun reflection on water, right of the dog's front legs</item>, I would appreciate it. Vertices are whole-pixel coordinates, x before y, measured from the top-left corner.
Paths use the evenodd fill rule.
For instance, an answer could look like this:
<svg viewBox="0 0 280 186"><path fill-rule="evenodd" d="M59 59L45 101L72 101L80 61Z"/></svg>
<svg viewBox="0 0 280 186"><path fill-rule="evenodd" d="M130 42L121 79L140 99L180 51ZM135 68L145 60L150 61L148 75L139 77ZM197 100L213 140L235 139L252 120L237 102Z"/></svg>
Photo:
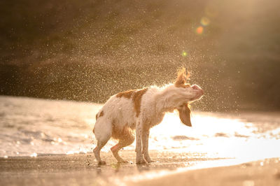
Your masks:
<svg viewBox="0 0 280 186"><path fill-rule="evenodd" d="M149 148L202 152L208 156L248 161L280 156L280 150L271 148L280 145L276 137L278 129L274 133L258 134L258 128L252 123L197 113L192 117L193 127L186 127L177 114L168 113L162 124L151 129L154 137L150 139Z"/></svg>

